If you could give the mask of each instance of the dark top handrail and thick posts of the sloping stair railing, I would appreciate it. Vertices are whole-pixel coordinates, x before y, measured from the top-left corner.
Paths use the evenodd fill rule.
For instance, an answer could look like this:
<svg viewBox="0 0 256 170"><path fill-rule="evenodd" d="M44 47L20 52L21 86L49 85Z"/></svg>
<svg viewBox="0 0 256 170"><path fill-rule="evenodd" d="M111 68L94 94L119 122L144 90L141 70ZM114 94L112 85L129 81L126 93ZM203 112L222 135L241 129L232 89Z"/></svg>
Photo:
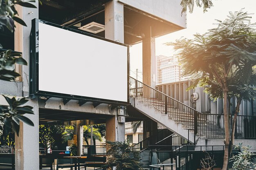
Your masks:
<svg viewBox="0 0 256 170"><path fill-rule="evenodd" d="M198 114L202 115L202 113L200 113L198 110L195 110L194 108L191 108L190 106L187 106L186 104L184 104L184 103L174 99L173 97L168 96L168 95L162 93L161 91L158 91L155 88L152 88L152 87L144 84L143 82L140 82L139 80L137 80L137 79L135 79L135 78L133 78L131 76L129 76L129 77L130 77L130 79L135 81L135 88L131 88L132 84L130 84L130 87L129 87L130 90L135 89L135 97L138 97L138 88L143 88L143 86L146 86L150 90L153 90L153 91L155 91L155 92L157 92L157 93L159 93L159 94L164 96L164 102L165 102L164 103L164 110L165 110L165 114L168 114L168 98L173 100L173 101L175 101L175 102L177 102L181 106L184 106L184 108L186 108L186 109L193 110L193 116L194 116L194 122L193 123L194 123L194 127L193 127L193 129L191 129L191 128L190 129L194 130L194 135L198 134ZM140 84L142 84L143 86L142 87L138 87L138 82ZM131 81L130 81L130 83L131 83ZM184 125L187 126L186 124L184 124ZM195 136L194 136L194 141L195 141Z"/></svg>

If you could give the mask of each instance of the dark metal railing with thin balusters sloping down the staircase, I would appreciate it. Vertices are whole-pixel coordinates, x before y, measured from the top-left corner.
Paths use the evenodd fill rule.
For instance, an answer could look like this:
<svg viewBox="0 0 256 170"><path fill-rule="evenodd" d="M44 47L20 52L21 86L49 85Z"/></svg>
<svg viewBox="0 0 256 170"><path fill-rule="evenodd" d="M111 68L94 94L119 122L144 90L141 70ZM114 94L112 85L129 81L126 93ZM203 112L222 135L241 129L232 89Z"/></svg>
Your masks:
<svg viewBox="0 0 256 170"><path fill-rule="evenodd" d="M155 109L168 114L169 117L181 122L190 130L194 130L194 134L201 134L198 129L198 112L182 102L130 77L130 95L141 99ZM202 116L199 116L202 117ZM195 141L195 137L194 137Z"/></svg>

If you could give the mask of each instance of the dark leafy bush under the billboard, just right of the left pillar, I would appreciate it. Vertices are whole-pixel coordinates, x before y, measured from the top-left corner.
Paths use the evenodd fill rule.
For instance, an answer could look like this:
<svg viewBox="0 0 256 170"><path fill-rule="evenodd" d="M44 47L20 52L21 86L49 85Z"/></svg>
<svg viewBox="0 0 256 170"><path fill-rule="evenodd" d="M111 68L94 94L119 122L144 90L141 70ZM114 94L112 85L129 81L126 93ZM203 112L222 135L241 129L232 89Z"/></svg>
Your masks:
<svg viewBox="0 0 256 170"><path fill-rule="evenodd" d="M39 144L43 144L46 148L52 148L55 143L53 131L49 125L39 125Z"/></svg>

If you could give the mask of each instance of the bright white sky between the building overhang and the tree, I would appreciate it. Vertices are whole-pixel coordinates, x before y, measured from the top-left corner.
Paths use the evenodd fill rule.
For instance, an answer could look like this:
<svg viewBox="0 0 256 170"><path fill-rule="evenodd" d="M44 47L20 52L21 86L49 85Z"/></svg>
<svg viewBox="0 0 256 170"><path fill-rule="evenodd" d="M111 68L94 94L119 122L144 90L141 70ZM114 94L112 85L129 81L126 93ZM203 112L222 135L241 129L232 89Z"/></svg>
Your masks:
<svg viewBox="0 0 256 170"><path fill-rule="evenodd" d="M195 33L205 33L208 29L216 27L213 23L216 23L215 19L225 20L229 11L239 11L241 8L245 8L244 11L248 13L256 13L256 0L213 0L213 7L208 12L203 13L203 9L195 7L193 13L187 13L187 28L170 33L155 40L155 55L171 56L174 54L171 46L166 46L166 42L174 42L176 39L181 38L193 38ZM251 15L252 22L256 22L256 14ZM133 72L138 68L142 71L142 44L133 45L130 48L130 70L131 75L135 77ZM139 73L141 76L141 73Z"/></svg>

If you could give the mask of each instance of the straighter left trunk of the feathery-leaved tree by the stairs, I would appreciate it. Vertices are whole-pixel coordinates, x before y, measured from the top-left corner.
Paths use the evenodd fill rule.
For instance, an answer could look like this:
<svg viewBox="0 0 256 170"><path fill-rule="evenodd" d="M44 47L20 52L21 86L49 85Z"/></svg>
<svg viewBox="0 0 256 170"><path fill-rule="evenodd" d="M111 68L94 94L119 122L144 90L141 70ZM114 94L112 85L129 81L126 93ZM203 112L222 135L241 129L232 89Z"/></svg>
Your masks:
<svg viewBox="0 0 256 170"><path fill-rule="evenodd" d="M228 115L228 106L227 106L227 88L223 89L224 93L224 104L223 104L223 114L224 114L224 128L225 128L225 150L224 150L224 159L222 170L227 170L229 162L229 115Z"/></svg>

